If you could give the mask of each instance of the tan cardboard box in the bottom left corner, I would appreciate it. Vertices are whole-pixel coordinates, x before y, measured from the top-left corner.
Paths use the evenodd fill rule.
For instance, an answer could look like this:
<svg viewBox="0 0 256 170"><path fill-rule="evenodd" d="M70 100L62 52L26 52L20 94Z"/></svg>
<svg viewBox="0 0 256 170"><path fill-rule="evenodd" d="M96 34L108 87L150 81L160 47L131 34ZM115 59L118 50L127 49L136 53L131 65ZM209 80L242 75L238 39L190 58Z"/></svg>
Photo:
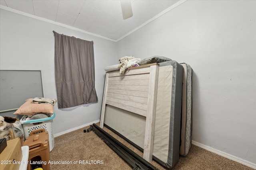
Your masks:
<svg viewBox="0 0 256 170"><path fill-rule="evenodd" d="M0 170L18 170L22 160L20 138L7 141L7 147L0 154Z"/></svg>

